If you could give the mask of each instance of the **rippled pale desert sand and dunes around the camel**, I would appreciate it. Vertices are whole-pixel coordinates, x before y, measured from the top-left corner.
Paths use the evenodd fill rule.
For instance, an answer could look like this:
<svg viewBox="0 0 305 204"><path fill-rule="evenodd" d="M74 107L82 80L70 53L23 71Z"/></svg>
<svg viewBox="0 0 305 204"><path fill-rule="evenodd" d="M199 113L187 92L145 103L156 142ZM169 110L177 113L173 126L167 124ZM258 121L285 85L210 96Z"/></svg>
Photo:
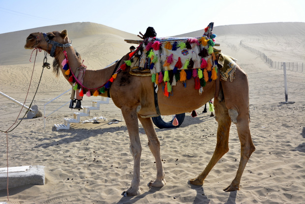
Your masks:
<svg viewBox="0 0 305 204"><path fill-rule="evenodd" d="M209 22L208 22L209 23ZM207 23L207 24L208 24ZM259 56L240 46L245 42L264 52L274 61L305 63L305 23L270 23L219 26L213 33L223 53L238 60L247 72L251 123L250 131L256 151L252 154L242 176L241 190L224 192L235 177L240 161L240 142L232 124L230 150L215 165L203 186L192 186L188 179L196 177L210 161L216 145L217 123L210 113L197 109L197 117L186 113L178 129L158 129L161 156L167 184L149 188L155 179L154 158L141 125L142 195L122 197L130 186L133 159L124 121L108 125L112 119L121 120L120 109L110 100L93 117L103 116L99 124L72 124L70 130L56 131L54 124L75 112L68 104L46 118L25 118L8 133L9 167L45 166L46 184L25 185L0 191L0 202L11 204L301 204L305 200L305 68L287 70L288 101L285 102L283 70L270 68ZM132 44L124 39L138 39L125 33L93 23L74 23L0 34L0 91L24 102L33 69L35 52L25 50L27 36L32 32L68 30L73 47L91 69L104 68L120 59ZM200 29L200 28L199 28ZM142 33L145 31L141 31ZM157 31L156 31L157 32ZM201 36L203 30L182 34ZM160 36L162 37L162 36ZM29 105L41 74L43 52L37 54L35 69L26 105ZM52 63L48 56L48 62ZM56 78L45 69L34 104L44 113L44 104L70 88L62 76ZM70 92L46 106L51 113L65 102ZM84 97L83 105L100 97ZM16 120L20 106L0 96L0 130L6 131ZM19 123L23 110L17 119ZM0 133L0 168L6 167L6 134Z"/></svg>

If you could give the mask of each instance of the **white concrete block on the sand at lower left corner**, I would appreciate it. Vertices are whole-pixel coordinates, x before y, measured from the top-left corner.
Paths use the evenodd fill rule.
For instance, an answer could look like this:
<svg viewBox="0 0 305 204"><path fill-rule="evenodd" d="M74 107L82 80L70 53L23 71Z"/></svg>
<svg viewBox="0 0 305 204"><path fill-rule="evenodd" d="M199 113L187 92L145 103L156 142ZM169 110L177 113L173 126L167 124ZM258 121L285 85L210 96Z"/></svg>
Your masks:
<svg viewBox="0 0 305 204"><path fill-rule="evenodd" d="M22 166L8 168L8 188L23 185L44 185L44 166ZM7 186L7 168L0 168L0 190Z"/></svg>

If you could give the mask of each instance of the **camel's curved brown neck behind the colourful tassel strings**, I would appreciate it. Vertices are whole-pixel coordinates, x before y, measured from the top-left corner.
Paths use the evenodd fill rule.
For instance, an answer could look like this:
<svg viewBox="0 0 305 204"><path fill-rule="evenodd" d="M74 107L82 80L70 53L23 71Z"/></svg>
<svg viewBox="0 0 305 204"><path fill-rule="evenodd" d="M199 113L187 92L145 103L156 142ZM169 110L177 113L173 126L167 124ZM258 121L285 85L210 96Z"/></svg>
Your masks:
<svg viewBox="0 0 305 204"><path fill-rule="evenodd" d="M78 68L81 67L82 62L81 59L76 55L75 50L73 49L73 47L67 47L65 48L66 54L67 54L67 59L68 59L68 64L70 67L70 70L72 71L72 73L75 75L76 71ZM62 65L61 62L65 59L64 53L61 50L61 53L58 53L58 55L56 55L56 58L58 60L58 62L60 63L60 67L61 67L61 71L64 75L64 77L68 80L69 77L67 77L65 75L65 70L62 69ZM111 77L112 73L113 73L114 67L111 66L109 68L105 68L105 69L99 69L99 70L86 70L85 71L85 75L83 78L83 86L89 89L94 89L97 87L100 87L102 85L104 85ZM72 85L72 82L69 81L69 83ZM102 94L103 97L107 97L107 93Z"/></svg>

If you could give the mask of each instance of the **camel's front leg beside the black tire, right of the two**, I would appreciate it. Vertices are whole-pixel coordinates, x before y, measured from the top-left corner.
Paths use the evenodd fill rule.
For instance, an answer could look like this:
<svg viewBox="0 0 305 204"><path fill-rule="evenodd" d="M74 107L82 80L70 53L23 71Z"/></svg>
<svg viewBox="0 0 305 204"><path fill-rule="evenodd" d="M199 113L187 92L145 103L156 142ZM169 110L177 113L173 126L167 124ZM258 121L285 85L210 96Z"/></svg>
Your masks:
<svg viewBox="0 0 305 204"><path fill-rule="evenodd" d="M156 180L150 182L148 185L153 186L153 187L162 187L166 184L166 181L164 179L165 173L163 170L161 155L160 155L160 141L154 130L154 127L152 124L152 118L141 118L141 116L139 116L139 120L140 120L141 124L143 125L143 128L148 137L148 146L150 147L150 149L152 151L152 155L154 156L155 165L157 168Z"/></svg>

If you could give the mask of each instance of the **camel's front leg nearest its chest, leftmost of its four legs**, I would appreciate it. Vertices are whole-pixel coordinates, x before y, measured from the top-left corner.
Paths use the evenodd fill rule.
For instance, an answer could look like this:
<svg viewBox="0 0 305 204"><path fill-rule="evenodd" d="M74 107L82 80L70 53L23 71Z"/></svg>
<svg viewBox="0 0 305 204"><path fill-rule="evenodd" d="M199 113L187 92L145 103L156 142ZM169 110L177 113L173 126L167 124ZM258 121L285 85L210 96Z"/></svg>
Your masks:
<svg viewBox="0 0 305 204"><path fill-rule="evenodd" d="M130 152L133 156L133 178L131 186L122 193L123 196L137 196L140 190L140 159L142 146L139 137L138 117L135 110L131 108L121 108L127 126L130 139Z"/></svg>

